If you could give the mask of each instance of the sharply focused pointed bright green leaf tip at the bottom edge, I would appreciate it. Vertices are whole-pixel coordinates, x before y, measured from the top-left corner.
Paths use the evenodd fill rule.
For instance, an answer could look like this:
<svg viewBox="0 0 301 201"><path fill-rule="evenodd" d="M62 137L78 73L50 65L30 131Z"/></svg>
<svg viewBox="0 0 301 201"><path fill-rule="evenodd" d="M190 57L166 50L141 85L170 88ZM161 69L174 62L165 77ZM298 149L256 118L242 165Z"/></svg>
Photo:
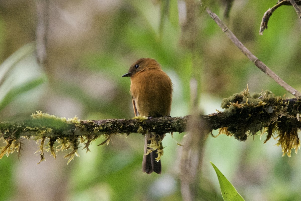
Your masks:
<svg viewBox="0 0 301 201"><path fill-rule="evenodd" d="M217 178L219 179L219 186L221 188L222 196L225 201L245 201L242 196L237 192L234 186L228 181L228 179L222 174L221 171L211 162Z"/></svg>

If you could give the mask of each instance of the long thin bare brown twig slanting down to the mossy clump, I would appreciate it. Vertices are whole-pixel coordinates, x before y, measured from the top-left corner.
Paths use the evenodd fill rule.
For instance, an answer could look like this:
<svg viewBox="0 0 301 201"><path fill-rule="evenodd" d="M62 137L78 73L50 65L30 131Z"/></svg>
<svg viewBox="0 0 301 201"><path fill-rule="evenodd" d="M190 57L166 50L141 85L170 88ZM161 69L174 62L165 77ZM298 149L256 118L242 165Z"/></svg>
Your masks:
<svg viewBox="0 0 301 201"><path fill-rule="evenodd" d="M297 90L288 85L284 80L282 80L278 75L276 75L270 68L268 68L262 61L260 61L256 56L250 52L238 39L237 37L228 29L228 27L219 19L215 13L213 13L209 8L206 8L206 12L210 15L210 17L216 22L216 24L222 29L222 31L228 36L229 39L240 49L247 58L250 59L261 71L270 76L273 80L276 81L280 86L282 86L285 90L298 97L301 96Z"/></svg>

